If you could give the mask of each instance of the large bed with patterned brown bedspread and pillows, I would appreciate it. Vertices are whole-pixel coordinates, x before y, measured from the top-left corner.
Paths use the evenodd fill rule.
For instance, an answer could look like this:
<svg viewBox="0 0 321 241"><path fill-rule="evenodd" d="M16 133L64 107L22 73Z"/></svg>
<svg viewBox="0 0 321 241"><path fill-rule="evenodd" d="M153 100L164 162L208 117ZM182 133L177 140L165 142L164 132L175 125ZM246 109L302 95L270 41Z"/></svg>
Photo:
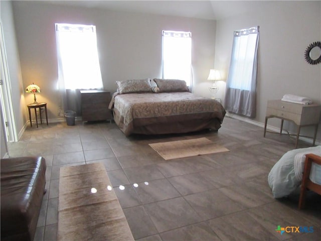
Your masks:
<svg viewBox="0 0 321 241"><path fill-rule="evenodd" d="M214 99L197 96L183 80L143 79L116 81L109 108L126 135L217 131L225 109Z"/></svg>

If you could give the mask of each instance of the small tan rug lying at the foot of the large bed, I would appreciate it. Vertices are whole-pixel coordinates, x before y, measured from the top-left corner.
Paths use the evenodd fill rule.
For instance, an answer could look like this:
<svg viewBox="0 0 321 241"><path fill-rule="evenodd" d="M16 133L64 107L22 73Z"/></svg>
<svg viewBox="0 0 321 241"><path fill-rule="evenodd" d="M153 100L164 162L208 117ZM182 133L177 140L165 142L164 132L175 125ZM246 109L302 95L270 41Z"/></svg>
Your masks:
<svg viewBox="0 0 321 241"><path fill-rule="evenodd" d="M229 151L225 147L217 145L205 137L148 145L165 160Z"/></svg>

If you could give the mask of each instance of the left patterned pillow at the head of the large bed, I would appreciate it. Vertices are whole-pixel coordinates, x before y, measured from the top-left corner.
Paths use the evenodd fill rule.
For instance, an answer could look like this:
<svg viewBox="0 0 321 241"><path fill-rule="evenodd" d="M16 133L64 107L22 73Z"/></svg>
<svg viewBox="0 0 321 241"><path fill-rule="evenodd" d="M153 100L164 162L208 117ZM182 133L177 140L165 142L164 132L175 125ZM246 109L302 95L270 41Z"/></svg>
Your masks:
<svg viewBox="0 0 321 241"><path fill-rule="evenodd" d="M152 92L150 79L131 79L116 81L120 94Z"/></svg>

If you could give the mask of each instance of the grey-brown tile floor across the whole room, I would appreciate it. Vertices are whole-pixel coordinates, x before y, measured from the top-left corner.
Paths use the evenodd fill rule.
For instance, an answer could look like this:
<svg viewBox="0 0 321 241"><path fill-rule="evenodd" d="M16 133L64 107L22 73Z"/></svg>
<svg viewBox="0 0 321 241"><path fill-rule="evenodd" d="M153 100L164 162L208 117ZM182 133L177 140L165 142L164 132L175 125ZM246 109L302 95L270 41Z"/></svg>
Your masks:
<svg viewBox="0 0 321 241"><path fill-rule="evenodd" d="M199 137L230 151L165 161L148 146ZM114 123L28 127L9 145L9 154L43 156L47 162L37 241L57 240L59 168L91 162L104 163L136 240L317 240L321 196L309 193L307 207L299 211L297 194L276 200L267 183L272 166L293 148L288 136L263 138L262 128L225 117L218 132L129 138ZM314 231L281 235L277 225Z"/></svg>

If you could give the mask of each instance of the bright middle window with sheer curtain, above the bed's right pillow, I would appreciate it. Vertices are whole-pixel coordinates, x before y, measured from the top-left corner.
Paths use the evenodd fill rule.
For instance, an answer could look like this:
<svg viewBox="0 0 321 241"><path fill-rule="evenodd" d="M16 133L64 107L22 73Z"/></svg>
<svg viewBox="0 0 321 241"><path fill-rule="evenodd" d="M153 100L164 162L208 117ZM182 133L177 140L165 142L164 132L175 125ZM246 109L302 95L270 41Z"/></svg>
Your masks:
<svg viewBox="0 0 321 241"><path fill-rule="evenodd" d="M162 77L182 79L192 85L192 34L163 31Z"/></svg>

